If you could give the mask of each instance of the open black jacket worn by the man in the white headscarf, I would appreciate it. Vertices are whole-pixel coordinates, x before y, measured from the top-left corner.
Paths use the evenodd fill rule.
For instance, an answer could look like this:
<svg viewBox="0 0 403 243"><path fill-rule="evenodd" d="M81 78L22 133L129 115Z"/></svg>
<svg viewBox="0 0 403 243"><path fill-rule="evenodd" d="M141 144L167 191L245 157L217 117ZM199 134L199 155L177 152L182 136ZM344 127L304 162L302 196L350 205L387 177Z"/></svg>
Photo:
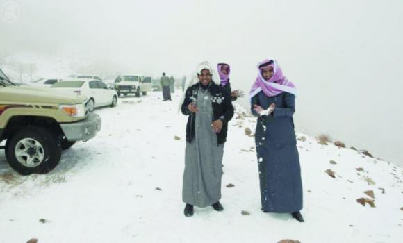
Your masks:
<svg viewBox="0 0 403 243"><path fill-rule="evenodd" d="M183 115L188 115L188 124L186 124L186 141L192 142L195 137L195 117L197 113L193 113L188 109L190 103L197 101L197 94L199 92L200 84L197 83L188 87L186 90L186 97L181 106ZM200 87L201 88L201 87ZM233 106L231 103L231 95L221 85L216 85L211 82L208 85L208 90L211 94L211 106L213 108L213 119L222 120L222 129L217 133L217 145L223 144L227 141L228 121L233 117ZM213 121L211 121L213 123Z"/></svg>

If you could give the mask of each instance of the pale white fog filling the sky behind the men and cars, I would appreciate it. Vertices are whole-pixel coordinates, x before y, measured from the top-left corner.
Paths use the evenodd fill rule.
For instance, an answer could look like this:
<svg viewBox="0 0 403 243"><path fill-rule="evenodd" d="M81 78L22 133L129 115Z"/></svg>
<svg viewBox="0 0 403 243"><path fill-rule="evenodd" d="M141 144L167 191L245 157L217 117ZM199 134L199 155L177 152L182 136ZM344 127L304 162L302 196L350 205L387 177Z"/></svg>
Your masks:
<svg viewBox="0 0 403 243"><path fill-rule="evenodd" d="M58 58L75 72L82 59L92 72L154 76L228 62L232 86L246 94L256 63L276 58L298 89L297 131L403 165L401 0L13 3L17 20L0 19L3 57Z"/></svg>

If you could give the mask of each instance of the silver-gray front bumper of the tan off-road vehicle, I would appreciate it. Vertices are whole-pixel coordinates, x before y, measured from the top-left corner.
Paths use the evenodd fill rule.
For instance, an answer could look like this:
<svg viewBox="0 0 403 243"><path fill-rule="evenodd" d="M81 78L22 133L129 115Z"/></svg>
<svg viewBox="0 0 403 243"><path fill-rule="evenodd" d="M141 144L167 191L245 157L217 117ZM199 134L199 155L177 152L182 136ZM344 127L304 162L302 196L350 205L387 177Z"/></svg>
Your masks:
<svg viewBox="0 0 403 243"><path fill-rule="evenodd" d="M82 121L60 124L60 126L68 141L90 140L101 131L101 117L90 113Z"/></svg>

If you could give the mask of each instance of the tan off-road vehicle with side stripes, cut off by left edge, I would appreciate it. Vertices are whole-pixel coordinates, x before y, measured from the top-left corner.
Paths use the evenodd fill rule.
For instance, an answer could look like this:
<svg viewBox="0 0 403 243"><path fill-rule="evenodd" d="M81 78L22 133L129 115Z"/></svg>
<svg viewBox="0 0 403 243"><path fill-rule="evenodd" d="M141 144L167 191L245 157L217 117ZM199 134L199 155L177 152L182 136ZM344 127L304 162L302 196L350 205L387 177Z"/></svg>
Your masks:
<svg viewBox="0 0 403 243"><path fill-rule="evenodd" d="M19 174L44 174L60 161L61 151L86 141L101 129L88 112L86 98L42 87L14 85L0 69L0 145Z"/></svg>

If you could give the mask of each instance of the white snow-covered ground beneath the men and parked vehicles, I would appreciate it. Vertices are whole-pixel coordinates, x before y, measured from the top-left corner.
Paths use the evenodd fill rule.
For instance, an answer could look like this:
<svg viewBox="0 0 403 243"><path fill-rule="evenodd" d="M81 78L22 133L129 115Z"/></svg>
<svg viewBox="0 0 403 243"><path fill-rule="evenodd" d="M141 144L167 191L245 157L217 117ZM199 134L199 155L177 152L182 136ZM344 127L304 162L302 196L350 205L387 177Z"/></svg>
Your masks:
<svg viewBox="0 0 403 243"><path fill-rule="evenodd" d="M302 134L306 222L261 212L254 137L245 135L245 128L254 133L256 118L240 107L224 149L224 211L195 208L184 217L179 97L163 102L151 92L97 110L99 135L65 151L47 175L19 176L0 151L0 242L402 242L402 168ZM375 208L356 201L370 198L368 190Z"/></svg>

